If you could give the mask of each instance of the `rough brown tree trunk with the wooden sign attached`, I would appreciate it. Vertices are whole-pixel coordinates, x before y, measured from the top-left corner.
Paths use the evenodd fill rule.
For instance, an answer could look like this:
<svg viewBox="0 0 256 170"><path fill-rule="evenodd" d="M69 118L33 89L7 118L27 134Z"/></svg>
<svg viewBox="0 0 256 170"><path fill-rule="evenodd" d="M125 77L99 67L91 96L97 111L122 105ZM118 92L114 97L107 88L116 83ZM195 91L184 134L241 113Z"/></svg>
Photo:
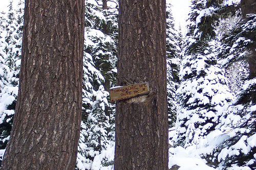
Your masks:
<svg viewBox="0 0 256 170"><path fill-rule="evenodd" d="M119 1L117 84L150 94L116 103L116 170L168 169L165 0Z"/></svg>

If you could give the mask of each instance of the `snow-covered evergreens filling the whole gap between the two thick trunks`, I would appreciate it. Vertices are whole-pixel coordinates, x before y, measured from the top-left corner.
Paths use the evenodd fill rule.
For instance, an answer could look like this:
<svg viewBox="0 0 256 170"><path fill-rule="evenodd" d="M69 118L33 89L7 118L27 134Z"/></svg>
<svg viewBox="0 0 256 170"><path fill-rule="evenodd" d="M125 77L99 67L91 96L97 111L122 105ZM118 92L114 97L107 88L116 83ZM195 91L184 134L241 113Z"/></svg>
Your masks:
<svg viewBox="0 0 256 170"><path fill-rule="evenodd" d="M101 1L86 1L83 113L77 169L112 168L114 106L108 103L115 85L117 8L102 10Z"/></svg>

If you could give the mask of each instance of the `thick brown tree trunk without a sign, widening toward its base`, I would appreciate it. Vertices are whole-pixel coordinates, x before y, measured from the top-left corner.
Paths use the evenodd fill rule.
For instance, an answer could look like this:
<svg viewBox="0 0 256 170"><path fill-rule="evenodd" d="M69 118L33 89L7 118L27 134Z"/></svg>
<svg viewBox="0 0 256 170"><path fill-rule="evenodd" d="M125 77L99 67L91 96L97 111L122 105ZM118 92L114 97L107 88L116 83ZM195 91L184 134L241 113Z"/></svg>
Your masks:
<svg viewBox="0 0 256 170"><path fill-rule="evenodd" d="M13 128L2 169L74 169L84 1L26 0Z"/></svg>

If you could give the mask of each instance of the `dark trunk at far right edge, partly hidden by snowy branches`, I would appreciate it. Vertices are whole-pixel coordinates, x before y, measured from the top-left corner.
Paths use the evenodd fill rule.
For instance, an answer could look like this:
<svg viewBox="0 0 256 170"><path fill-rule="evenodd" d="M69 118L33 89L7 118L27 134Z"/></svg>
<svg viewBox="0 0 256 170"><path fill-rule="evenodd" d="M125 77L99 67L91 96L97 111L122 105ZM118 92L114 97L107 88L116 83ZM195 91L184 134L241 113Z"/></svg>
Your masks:
<svg viewBox="0 0 256 170"><path fill-rule="evenodd" d="M241 0L242 6L242 14L243 17L246 17L246 14L256 14L256 0ZM250 34L250 38L252 41L256 42L256 34ZM256 77L256 46L252 45L249 47L251 55L248 57L247 61L249 63L249 78L253 79ZM256 103L256 91L250 94L250 98L252 103Z"/></svg>

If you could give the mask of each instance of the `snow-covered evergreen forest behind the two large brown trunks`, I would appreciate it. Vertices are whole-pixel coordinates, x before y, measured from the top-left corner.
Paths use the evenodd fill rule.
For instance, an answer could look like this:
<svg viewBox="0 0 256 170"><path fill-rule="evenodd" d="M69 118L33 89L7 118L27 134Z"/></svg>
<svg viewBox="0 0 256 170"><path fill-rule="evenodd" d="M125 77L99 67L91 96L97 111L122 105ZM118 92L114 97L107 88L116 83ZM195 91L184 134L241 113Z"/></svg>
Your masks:
<svg viewBox="0 0 256 170"><path fill-rule="evenodd" d="M113 169L118 2L86 0L83 105L76 169ZM187 27L175 27L167 1L169 168L255 169L256 79L249 49L256 15L242 18L240 1L191 1ZM15 4L15 5L14 5ZM18 4L18 5L16 5ZM24 1L0 14L0 158L18 92Z"/></svg>

